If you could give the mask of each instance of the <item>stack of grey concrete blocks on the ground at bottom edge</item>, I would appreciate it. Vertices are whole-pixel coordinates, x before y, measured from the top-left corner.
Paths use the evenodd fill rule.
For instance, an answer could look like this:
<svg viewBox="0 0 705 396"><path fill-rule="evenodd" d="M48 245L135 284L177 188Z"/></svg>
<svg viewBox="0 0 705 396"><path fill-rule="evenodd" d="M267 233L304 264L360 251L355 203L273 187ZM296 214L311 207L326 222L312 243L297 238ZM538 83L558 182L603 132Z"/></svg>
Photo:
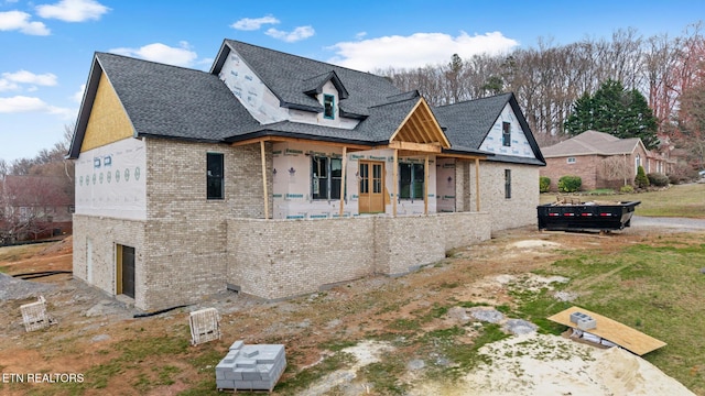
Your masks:
<svg viewBox="0 0 705 396"><path fill-rule="evenodd" d="M284 345L245 345L242 341L236 341L216 366L216 386L219 391L272 392L284 369Z"/></svg>

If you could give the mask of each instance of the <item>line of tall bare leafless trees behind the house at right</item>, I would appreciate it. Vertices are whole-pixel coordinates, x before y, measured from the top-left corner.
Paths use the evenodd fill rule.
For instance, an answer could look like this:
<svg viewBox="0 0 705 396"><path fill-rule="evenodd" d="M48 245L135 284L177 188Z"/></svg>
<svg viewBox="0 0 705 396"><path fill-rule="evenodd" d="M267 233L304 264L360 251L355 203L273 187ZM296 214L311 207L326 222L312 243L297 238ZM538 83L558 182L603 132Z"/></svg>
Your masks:
<svg viewBox="0 0 705 396"><path fill-rule="evenodd" d="M581 97L606 81L618 81L648 98L662 143L692 148L703 165L704 61L705 38L697 22L673 37L644 37L636 29L619 29L609 38L571 44L539 38L533 47L503 55L453 55L447 64L376 73L402 90L419 89L432 106L512 91L544 146L570 136L566 121Z"/></svg>

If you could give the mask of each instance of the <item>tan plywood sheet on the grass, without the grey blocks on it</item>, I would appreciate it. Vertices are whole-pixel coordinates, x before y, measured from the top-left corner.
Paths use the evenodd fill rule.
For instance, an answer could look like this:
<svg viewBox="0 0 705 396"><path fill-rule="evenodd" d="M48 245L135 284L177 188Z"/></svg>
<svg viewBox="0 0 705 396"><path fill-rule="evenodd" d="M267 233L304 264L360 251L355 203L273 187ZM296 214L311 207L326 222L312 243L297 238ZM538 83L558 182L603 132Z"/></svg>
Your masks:
<svg viewBox="0 0 705 396"><path fill-rule="evenodd" d="M589 315L597 321L597 327L592 330L586 330L587 332L601 337L607 341L611 341L617 345L629 350L640 356L644 353L649 353L665 345L665 342L647 336L639 330L634 330L616 320L609 319L599 314L595 314L579 307L571 307L550 317L549 320L567 327L576 328L575 323L571 322L571 314L573 312L583 312L585 315Z"/></svg>

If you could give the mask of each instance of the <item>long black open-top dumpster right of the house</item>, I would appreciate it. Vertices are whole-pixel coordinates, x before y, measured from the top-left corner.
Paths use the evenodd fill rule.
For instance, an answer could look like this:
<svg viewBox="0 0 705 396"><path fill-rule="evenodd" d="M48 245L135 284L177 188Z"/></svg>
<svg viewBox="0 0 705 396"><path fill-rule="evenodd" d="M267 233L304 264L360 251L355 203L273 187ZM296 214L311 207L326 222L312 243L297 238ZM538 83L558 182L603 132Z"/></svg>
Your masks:
<svg viewBox="0 0 705 396"><path fill-rule="evenodd" d="M614 231L629 227L641 201L554 202L536 207L539 230Z"/></svg>

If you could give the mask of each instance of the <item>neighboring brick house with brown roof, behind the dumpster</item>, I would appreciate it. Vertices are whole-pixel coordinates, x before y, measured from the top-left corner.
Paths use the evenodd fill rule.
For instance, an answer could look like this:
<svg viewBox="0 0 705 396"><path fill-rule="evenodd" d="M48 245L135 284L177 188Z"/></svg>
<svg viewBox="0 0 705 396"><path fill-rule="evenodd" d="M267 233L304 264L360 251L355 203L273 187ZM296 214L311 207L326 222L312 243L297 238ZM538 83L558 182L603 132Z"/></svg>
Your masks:
<svg viewBox="0 0 705 396"><path fill-rule="evenodd" d="M586 131L558 144L543 147L546 166L541 176L551 178L551 190L557 190L558 179L579 176L583 190L620 188L633 185L637 169L646 173L668 172L668 162L647 150L638 138L619 139L610 134Z"/></svg>

